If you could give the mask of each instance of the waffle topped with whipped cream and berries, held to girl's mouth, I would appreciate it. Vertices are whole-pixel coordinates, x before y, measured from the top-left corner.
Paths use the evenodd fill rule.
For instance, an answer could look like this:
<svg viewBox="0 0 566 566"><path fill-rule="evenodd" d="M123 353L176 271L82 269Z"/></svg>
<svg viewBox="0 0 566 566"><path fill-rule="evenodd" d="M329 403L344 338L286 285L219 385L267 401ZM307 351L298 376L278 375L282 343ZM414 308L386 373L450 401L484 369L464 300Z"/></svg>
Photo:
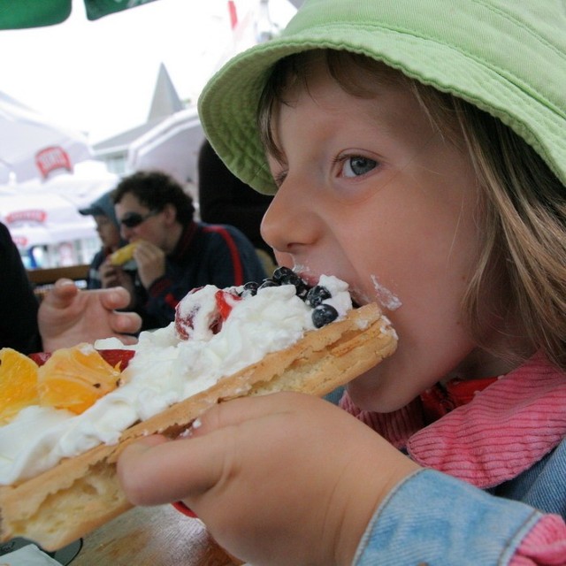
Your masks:
<svg viewBox="0 0 566 566"><path fill-rule="evenodd" d="M31 403L0 427L3 539L65 546L131 507L115 473L128 442L174 438L233 397L324 395L392 354L396 335L377 305L353 309L340 279L310 288L279 268L259 286L187 294L175 322L135 346L95 347L129 354L113 390L78 414Z"/></svg>

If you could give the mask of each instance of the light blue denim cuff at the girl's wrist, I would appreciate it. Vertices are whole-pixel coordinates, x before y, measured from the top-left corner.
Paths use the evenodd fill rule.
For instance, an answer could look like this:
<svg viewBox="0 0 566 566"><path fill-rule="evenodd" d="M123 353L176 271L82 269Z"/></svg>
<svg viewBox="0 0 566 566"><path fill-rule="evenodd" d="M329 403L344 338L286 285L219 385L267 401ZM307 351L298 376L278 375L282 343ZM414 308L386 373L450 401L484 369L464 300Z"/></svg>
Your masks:
<svg viewBox="0 0 566 566"><path fill-rule="evenodd" d="M435 470L419 470L373 516L354 564L508 564L541 514Z"/></svg>

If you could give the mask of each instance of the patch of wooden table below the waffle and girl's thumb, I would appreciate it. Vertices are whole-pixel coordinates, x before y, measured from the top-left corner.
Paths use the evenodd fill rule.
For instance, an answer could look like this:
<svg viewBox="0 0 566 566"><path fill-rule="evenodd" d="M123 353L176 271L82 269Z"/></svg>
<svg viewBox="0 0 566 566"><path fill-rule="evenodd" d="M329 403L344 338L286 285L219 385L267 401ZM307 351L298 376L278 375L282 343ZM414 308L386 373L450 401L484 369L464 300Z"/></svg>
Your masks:
<svg viewBox="0 0 566 566"><path fill-rule="evenodd" d="M236 566L198 519L137 507L88 534L72 566Z"/></svg>

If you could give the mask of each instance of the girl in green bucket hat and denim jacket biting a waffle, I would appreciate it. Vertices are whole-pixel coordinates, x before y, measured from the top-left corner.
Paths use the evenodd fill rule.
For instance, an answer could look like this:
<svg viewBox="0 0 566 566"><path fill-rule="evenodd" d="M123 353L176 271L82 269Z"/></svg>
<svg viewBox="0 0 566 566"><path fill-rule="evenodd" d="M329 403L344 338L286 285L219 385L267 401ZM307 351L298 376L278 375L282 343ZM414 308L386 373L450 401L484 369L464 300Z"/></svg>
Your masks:
<svg viewBox="0 0 566 566"><path fill-rule="evenodd" d="M311 0L203 92L279 263L400 337L342 409L236 400L122 456L254 564L566 563L566 17L444 4Z"/></svg>

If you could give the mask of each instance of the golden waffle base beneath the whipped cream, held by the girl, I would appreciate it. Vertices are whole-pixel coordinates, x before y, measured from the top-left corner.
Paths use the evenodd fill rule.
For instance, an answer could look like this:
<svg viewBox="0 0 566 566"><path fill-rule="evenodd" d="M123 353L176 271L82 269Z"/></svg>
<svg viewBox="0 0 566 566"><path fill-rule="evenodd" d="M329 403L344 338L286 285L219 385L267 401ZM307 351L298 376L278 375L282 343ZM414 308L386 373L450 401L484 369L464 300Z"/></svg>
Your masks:
<svg viewBox="0 0 566 566"><path fill-rule="evenodd" d="M0 487L0 537L25 537L57 550L130 509L116 474L126 445L151 433L175 438L218 402L245 395L297 391L323 396L368 371L396 348L396 334L377 305L305 333L290 348L220 379L123 432L117 445L101 445L67 458L16 485Z"/></svg>

